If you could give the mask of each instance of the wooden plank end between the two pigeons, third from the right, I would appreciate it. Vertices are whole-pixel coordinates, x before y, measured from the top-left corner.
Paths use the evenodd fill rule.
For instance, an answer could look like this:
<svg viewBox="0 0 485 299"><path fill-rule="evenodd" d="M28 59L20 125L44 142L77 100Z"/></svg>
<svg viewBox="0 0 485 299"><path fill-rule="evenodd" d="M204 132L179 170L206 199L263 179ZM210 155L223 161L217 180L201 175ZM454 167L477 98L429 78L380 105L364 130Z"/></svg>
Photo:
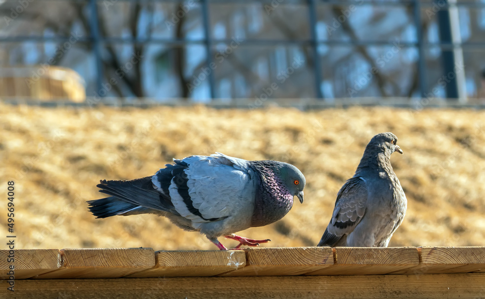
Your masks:
<svg viewBox="0 0 485 299"><path fill-rule="evenodd" d="M248 248L246 266L221 276L300 275L334 264L330 247Z"/></svg>

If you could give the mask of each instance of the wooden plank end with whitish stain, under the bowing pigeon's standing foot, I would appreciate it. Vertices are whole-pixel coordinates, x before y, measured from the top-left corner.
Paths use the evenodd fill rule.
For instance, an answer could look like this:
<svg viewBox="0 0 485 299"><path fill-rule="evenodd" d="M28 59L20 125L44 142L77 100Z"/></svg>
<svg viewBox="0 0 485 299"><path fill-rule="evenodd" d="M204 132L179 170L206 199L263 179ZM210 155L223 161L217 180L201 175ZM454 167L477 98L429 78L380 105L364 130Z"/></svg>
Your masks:
<svg viewBox="0 0 485 299"><path fill-rule="evenodd" d="M127 277L214 276L245 265L246 255L242 250L157 251L153 268Z"/></svg>

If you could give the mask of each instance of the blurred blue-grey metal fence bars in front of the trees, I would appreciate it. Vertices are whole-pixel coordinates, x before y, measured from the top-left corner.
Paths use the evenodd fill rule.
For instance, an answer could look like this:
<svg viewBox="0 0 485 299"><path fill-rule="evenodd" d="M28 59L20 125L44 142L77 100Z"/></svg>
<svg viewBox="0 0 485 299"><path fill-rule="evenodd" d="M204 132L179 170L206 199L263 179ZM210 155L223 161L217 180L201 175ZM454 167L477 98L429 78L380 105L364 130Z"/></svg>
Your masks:
<svg viewBox="0 0 485 299"><path fill-rule="evenodd" d="M203 31L205 37L203 39L190 39L190 40L178 40L178 39L170 39L170 38L118 38L118 37L106 37L102 36L99 32L99 22L98 22L98 4L102 3L105 0L72 0L75 2L83 2L89 4L90 16L89 17L89 28L90 28L90 35L87 37L79 38L80 42L92 43L96 61L96 76L97 76L97 89L102 89L102 82L104 78L103 74L103 63L101 59L101 45L105 43L132 43L132 44L154 44L154 43L162 43L162 44L170 44L170 45L189 45L189 44L201 44L205 46L207 51L206 55L206 66L209 66L212 62L212 45L215 42L230 42L230 40L225 39L215 39L211 37L210 34L210 16L209 16L209 5L210 3L241 3L236 0L194 0L195 2L200 3L201 5L201 13L202 13L202 24L203 24ZM113 0L112 0L113 1ZM118 1L126 1L126 2L180 2L177 0L114 0L114 2ZM258 2L258 3L271 3L271 0L248 0L250 2ZM275 1L275 0L273 0ZM247 1L245 1L247 2ZM485 42L469 42L469 43L455 43L453 40L441 40L439 42L425 42L424 36L422 33L421 28L421 9L422 8L433 8L434 6L438 5L440 11L443 11L449 8L456 8L456 7L474 7L474 8L484 8L485 9L485 2L477 2L477 1L456 1L456 0L433 0L433 1L420 1L420 0L401 0L401 1L376 1L376 0L357 0L357 1L349 1L349 0L301 0L301 1L287 1L285 2L286 5L291 5L292 3L296 4L305 4L308 7L308 22L310 28L310 38L308 40L267 40L267 39L247 39L245 40L246 45L261 45L261 44L283 44L283 45L307 45L311 47L313 55L318 57L319 54L317 52L317 48L320 45L355 45L355 46L392 46L392 41L372 41L372 40L345 40L345 41L337 41L337 40L319 40L316 33L317 28L317 15L316 15L316 7L319 4L331 4L331 5L351 5L353 3L359 2L360 5L386 5L386 6L399 6L399 7L410 7L412 8L412 14L414 16L414 26L416 28L416 36L417 41L415 42L400 42L403 46L407 47L416 47L419 50L419 58L417 63L418 68L418 76L419 76L419 87L418 90L423 98L426 97L426 78L427 78L427 69L425 65L425 50L430 47L440 47L443 50L453 51L456 49L483 49L485 50ZM446 23L446 17L444 19ZM449 20L447 24L440 24L440 26L450 26ZM58 41L63 42L67 41L69 37L48 37L48 36L5 36L0 37L0 43L8 43L8 42L24 42L24 41L37 41L37 42L47 42L47 41ZM451 64L444 64L445 69L444 72L448 72L449 67L453 67L453 63ZM315 97L318 99L323 99L322 88L320 86L322 82L322 71L319 59L314 59L314 65L312 67L312 72L314 76L314 83L316 95ZM209 84L210 84L210 97L215 99L215 79L214 74L211 72L209 74ZM447 86L447 98L458 98L458 94L456 90L453 90L453 84L449 84ZM452 89L450 89L452 88ZM456 86L454 87L456 89Z"/></svg>

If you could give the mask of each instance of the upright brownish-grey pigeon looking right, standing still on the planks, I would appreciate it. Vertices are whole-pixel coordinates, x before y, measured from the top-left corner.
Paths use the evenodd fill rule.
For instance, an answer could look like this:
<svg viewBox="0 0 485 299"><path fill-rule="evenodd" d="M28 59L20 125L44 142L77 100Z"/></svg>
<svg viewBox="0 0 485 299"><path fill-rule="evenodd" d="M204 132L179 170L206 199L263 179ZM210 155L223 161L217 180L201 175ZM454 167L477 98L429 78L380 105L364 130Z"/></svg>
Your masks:
<svg viewBox="0 0 485 299"><path fill-rule="evenodd" d="M403 153L393 133L372 137L354 177L340 189L332 219L317 246L388 246L407 208L390 163L394 151Z"/></svg>

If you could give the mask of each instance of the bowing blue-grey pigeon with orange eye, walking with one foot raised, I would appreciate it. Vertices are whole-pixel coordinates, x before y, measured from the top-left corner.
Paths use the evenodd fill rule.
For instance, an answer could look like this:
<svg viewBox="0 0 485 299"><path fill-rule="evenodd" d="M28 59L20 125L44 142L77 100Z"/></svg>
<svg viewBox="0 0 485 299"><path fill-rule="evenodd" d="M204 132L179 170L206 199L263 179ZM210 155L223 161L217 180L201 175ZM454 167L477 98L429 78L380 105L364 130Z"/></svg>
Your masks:
<svg viewBox="0 0 485 299"><path fill-rule="evenodd" d="M130 181L101 181L110 197L89 200L97 218L153 213L186 231L198 231L219 249L224 236L242 245L270 241L234 233L273 223L285 216L293 196L303 203L305 177L295 166L276 161L246 161L221 153L190 156L165 165L153 176Z"/></svg>

